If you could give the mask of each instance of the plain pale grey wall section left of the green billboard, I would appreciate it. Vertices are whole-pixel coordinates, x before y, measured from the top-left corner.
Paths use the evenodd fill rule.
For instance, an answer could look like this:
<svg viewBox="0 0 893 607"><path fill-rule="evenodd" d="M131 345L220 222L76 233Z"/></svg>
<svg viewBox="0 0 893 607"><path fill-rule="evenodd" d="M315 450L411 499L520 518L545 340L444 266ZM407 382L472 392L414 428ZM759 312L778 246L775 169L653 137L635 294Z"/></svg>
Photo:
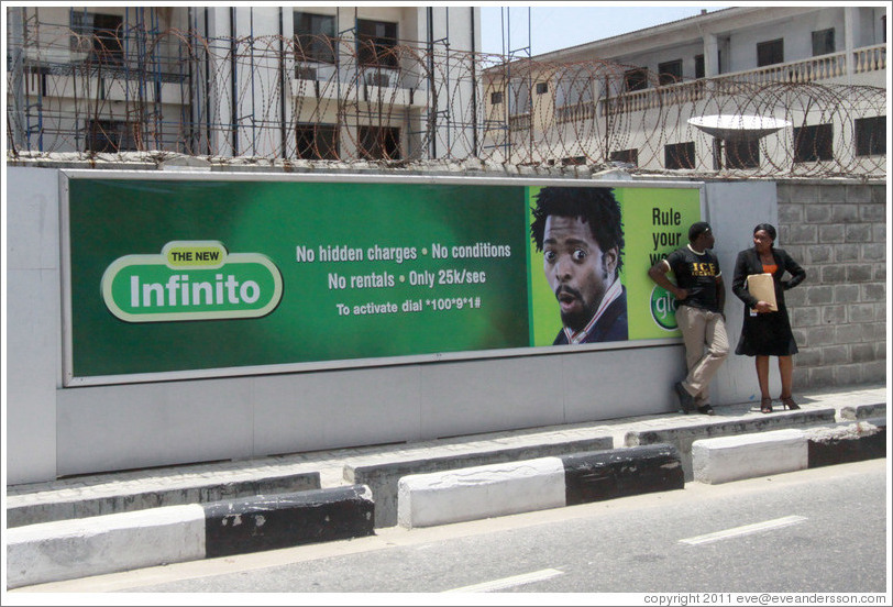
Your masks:
<svg viewBox="0 0 893 607"><path fill-rule="evenodd" d="M62 382L59 185L54 169L7 170L5 450L10 483L56 477Z"/></svg>

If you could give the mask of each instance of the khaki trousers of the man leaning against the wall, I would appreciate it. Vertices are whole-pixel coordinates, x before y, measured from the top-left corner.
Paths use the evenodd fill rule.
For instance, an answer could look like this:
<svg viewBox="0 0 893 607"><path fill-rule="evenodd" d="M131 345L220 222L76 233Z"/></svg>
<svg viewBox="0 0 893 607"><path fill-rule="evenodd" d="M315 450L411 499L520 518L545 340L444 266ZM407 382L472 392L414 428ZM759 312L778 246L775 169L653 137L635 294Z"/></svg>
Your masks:
<svg viewBox="0 0 893 607"><path fill-rule="evenodd" d="M710 379L729 355L729 339L723 314L680 306L676 323L685 343L685 364L688 375L682 387L695 397L695 407L707 405L710 399Z"/></svg>

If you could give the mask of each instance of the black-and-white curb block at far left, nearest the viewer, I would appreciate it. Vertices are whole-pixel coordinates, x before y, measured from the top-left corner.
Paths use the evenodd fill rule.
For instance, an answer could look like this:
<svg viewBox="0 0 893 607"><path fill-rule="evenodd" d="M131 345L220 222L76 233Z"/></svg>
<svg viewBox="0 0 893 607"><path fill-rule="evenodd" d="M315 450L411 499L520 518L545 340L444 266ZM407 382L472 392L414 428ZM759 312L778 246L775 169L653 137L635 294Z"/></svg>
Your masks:
<svg viewBox="0 0 893 607"><path fill-rule="evenodd" d="M364 485L7 530L7 587L374 534Z"/></svg>

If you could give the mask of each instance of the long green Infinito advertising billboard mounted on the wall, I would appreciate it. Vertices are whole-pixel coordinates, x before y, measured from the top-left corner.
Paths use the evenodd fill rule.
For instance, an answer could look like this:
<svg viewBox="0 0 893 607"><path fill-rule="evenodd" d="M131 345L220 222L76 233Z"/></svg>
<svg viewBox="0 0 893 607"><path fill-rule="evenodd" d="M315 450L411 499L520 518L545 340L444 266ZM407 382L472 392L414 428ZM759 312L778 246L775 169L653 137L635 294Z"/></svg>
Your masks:
<svg viewBox="0 0 893 607"><path fill-rule="evenodd" d="M603 278L616 275L613 288L599 283L588 299L582 288L577 300L555 285L570 284L589 252L574 245L563 256L558 220L545 220L544 242L531 227L544 188L588 184L79 175L67 184L66 383L505 353L561 343L565 312L608 316L595 304L611 297L628 322L622 338L611 333L615 346L675 336L672 300L646 272L701 218L696 187L596 188L616 202L624 244L596 263Z"/></svg>

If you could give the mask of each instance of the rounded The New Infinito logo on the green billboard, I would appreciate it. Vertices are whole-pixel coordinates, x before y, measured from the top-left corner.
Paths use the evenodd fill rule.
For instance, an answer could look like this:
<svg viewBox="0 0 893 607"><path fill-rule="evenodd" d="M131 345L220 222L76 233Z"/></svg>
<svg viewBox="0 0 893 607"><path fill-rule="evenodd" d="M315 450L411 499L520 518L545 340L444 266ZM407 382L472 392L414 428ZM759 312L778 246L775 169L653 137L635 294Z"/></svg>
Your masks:
<svg viewBox="0 0 893 607"><path fill-rule="evenodd" d="M125 322L261 318L283 296L279 268L218 241L174 241L159 255L125 255L102 276L102 299Z"/></svg>

